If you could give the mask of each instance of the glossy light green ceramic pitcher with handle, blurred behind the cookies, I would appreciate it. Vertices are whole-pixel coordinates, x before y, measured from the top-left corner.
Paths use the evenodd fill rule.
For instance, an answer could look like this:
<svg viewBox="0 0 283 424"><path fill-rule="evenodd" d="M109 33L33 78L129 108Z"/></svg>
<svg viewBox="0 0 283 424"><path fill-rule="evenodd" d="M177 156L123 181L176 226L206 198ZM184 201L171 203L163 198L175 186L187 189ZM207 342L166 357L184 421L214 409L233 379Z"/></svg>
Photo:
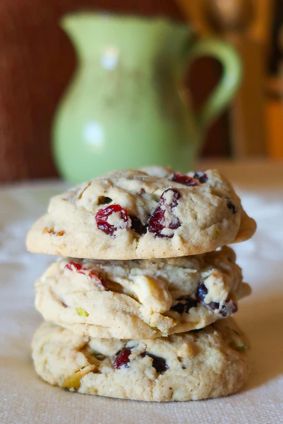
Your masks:
<svg viewBox="0 0 283 424"><path fill-rule="evenodd" d="M62 176L76 183L113 169L190 169L207 126L239 84L233 48L196 40L187 25L160 18L69 14L62 28L78 55L53 126ZM196 114L182 84L188 63L200 56L218 59L223 75Z"/></svg>

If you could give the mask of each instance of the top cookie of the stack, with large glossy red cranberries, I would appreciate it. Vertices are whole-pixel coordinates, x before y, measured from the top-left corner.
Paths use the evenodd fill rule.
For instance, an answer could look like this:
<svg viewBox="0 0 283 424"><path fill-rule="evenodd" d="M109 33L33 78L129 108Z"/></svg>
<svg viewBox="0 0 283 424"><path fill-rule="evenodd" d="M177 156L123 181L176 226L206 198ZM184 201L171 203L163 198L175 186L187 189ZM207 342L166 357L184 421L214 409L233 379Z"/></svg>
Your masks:
<svg viewBox="0 0 283 424"><path fill-rule="evenodd" d="M27 247L90 259L179 257L247 240L255 227L216 170L148 167L113 171L51 198Z"/></svg>

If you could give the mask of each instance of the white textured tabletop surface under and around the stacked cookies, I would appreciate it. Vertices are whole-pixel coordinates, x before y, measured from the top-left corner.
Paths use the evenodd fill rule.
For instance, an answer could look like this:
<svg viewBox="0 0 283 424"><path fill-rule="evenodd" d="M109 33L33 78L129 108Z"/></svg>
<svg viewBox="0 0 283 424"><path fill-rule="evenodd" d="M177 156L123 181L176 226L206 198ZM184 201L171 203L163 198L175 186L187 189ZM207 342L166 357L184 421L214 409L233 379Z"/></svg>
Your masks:
<svg viewBox="0 0 283 424"><path fill-rule="evenodd" d="M45 212L58 181L0 187L0 423L283 423L283 163L220 164L258 223L252 240L235 245L252 296L236 321L249 336L252 372L235 395L194 402L147 403L83 396L36 376L31 337L41 322L34 280L53 257L30 254L25 234Z"/></svg>

